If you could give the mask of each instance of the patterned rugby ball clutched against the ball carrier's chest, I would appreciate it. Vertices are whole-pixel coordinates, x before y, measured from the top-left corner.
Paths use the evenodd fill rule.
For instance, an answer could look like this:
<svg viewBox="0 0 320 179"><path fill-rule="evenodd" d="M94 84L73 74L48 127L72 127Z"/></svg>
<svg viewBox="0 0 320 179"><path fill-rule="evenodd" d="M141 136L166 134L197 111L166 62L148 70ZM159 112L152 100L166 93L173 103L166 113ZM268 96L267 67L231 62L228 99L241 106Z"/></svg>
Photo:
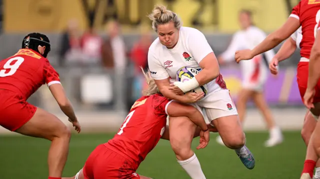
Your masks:
<svg viewBox="0 0 320 179"><path fill-rule="evenodd" d="M182 67L180 68L177 72L176 72L176 81L180 81L180 82L185 82L187 80L190 80L192 78L194 78L195 75L197 75L199 73L199 70L195 69L195 68L191 68L191 67ZM207 85L203 85L203 86L199 86L193 90L191 90L191 92L195 92L195 93L204 93L204 96L207 93Z"/></svg>

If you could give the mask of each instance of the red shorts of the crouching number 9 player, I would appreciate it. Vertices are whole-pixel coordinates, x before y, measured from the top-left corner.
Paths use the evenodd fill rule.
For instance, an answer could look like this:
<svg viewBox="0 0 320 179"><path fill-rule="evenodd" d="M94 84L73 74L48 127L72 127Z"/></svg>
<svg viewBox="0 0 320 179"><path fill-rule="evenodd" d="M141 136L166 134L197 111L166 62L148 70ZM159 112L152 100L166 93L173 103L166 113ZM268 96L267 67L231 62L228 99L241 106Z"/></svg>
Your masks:
<svg viewBox="0 0 320 179"><path fill-rule="evenodd" d="M0 89L0 126L15 131L34 115L36 107L27 103L20 95Z"/></svg>

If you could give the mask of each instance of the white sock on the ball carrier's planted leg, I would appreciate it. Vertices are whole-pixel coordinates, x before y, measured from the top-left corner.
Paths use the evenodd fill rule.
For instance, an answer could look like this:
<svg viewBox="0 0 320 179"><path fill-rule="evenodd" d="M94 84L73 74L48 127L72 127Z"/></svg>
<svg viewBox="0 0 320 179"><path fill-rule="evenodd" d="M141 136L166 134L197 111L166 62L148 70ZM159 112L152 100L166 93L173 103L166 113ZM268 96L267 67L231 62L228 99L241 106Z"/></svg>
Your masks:
<svg viewBox="0 0 320 179"><path fill-rule="evenodd" d="M191 179L205 179L205 176L201 170L200 163L196 158L195 154L193 154L192 157L190 157L185 161L177 160L177 162L185 170L185 172L191 177Z"/></svg>

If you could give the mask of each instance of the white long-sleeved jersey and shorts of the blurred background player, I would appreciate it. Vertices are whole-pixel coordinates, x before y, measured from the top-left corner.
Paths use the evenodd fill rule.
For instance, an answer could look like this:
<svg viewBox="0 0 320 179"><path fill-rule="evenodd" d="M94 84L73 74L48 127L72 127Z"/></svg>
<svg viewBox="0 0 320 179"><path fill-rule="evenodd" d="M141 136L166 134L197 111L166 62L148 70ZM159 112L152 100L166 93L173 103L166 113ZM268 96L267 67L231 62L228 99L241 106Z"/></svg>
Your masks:
<svg viewBox="0 0 320 179"><path fill-rule="evenodd" d="M253 49L256 45L264 40L266 34L255 26L250 26L245 30L239 30L232 36L231 43L228 48L221 54L225 61L234 60L235 51L242 49ZM242 72L242 83L255 83L256 79L260 80L260 83L266 81L268 64L263 61L265 58L266 62L269 63L274 56L274 51L271 49L263 53L263 55L257 55L252 60L240 61L241 72Z"/></svg>

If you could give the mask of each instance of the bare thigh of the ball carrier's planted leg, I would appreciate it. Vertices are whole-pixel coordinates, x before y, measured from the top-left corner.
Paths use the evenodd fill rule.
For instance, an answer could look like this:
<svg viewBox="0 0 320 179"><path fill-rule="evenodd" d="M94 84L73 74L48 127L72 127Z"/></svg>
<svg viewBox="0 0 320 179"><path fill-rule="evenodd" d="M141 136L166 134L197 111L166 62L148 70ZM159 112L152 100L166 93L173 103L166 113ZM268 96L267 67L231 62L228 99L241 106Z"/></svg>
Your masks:
<svg viewBox="0 0 320 179"><path fill-rule="evenodd" d="M196 126L185 116L169 117L169 139L172 148L191 145Z"/></svg>

